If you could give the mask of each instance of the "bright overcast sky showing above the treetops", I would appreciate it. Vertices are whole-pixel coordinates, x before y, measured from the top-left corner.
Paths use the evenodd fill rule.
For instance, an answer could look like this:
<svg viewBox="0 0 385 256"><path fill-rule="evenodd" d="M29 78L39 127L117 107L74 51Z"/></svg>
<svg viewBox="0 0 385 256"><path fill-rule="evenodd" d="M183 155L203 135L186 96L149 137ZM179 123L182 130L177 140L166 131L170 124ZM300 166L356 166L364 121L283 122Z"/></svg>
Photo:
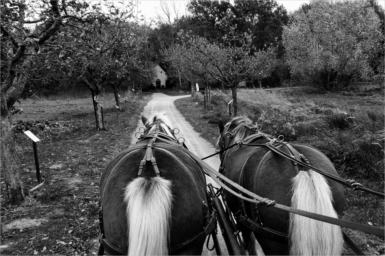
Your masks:
<svg viewBox="0 0 385 256"><path fill-rule="evenodd" d="M138 2L139 2L139 10L142 10L142 14L146 17L147 21L150 20L150 18L156 18L157 17L156 12L162 13L162 11L159 9L160 4L159 4L158 0L141 0ZM169 2L172 2L172 1L169 1ZM177 4L177 7L179 7L180 15L185 14L186 13L185 7L189 1L178 0L175 2ZM230 2L232 2L232 1L230 1ZM286 8L286 10L294 11L294 10L298 9L298 7L300 7L300 5L302 3L308 3L309 1L305 1L305 0L281 0L281 1L277 1L277 2L279 5L282 4ZM378 2L382 5L382 7L385 6L385 1L380 0ZM175 17L175 15L172 17L172 20L174 17Z"/></svg>

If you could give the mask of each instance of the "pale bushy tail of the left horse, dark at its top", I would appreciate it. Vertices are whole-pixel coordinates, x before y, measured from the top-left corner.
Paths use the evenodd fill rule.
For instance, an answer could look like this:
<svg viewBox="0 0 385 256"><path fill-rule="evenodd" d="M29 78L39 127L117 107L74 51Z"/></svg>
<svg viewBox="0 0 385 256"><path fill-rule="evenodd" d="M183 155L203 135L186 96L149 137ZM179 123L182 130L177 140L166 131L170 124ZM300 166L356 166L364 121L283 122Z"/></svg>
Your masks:
<svg viewBox="0 0 385 256"><path fill-rule="evenodd" d="M171 181L138 177L127 185L124 201L127 203L128 255L168 255Z"/></svg>

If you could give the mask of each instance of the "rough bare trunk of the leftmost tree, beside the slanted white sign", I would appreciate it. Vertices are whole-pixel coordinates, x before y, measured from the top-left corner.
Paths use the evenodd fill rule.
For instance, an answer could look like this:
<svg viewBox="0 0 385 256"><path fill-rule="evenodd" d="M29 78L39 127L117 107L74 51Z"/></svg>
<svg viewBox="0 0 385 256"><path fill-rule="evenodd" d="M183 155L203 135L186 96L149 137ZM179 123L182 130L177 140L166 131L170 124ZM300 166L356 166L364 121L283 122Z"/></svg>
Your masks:
<svg viewBox="0 0 385 256"><path fill-rule="evenodd" d="M24 186L21 177L20 161L17 155L15 134L12 127L11 111L2 106L0 116L1 133L1 168L7 185L8 196L11 203L24 200Z"/></svg>

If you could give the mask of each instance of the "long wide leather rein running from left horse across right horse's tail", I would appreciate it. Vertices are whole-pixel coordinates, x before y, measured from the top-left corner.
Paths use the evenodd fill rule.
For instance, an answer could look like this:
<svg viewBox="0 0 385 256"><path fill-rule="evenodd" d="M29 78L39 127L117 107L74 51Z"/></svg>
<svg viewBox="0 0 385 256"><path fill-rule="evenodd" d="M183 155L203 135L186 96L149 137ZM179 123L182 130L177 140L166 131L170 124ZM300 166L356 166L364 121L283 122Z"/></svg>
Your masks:
<svg viewBox="0 0 385 256"><path fill-rule="evenodd" d="M164 147L169 147L169 146L165 145ZM249 201L251 203L258 203L261 206L276 207L276 208L279 208L279 209L283 209L285 211L289 211L291 213L295 213L295 214L299 214L299 215L311 218L311 219L316 219L316 220L319 220L319 221L324 221L324 222L335 224L335 225L342 226L342 227L345 227L345 228L356 229L358 231L362 231L362 232L365 232L365 233L368 233L368 234L375 234L377 236L382 236L382 237L385 236L384 229L382 229L382 228L367 226L365 224L355 223L355 222L347 221L347 220L344 220L344 219L332 218L332 217L324 216L324 215L321 215L321 214L316 214L316 213L311 213L311 212L308 212L308 211L303 211L303 210L300 210L300 209L291 208L291 207L288 207L288 206L285 206L285 205L282 205L282 204L273 203L272 200L270 200L268 198L262 198L261 196L258 196L257 194L254 194L251 191L248 191L245 188L243 188L243 187L239 186L238 184L234 183L233 181L229 180L228 178L226 178L226 176L222 175L218 171L216 171L213 168L211 168L208 164L206 164L204 161L202 161L200 158L198 158L198 156L192 154L190 151L188 151L188 150L186 150L186 149L184 149L182 147L180 149L182 151L186 152L187 154L189 154L192 158L194 158L194 160L196 160L199 164L201 164L204 167L204 169L207 171L208 175L211 178L213 178L213 180L215 182L217 182L219 185L221 185L223 187L223 189L229 191L234 196L237 196L237 197L239 197L239 198L241 198L243 200ZM229 188L227 185L225 185L217 177L219 177L222 180L226 181L226 183L228 183L229 185L233 186L237 190L241 191L243 194L246 194L247 196L250 196L253 199L245 197L245 196L242 196L241 194L239 194L239 192L236 192L233 189Z"/></svg>

